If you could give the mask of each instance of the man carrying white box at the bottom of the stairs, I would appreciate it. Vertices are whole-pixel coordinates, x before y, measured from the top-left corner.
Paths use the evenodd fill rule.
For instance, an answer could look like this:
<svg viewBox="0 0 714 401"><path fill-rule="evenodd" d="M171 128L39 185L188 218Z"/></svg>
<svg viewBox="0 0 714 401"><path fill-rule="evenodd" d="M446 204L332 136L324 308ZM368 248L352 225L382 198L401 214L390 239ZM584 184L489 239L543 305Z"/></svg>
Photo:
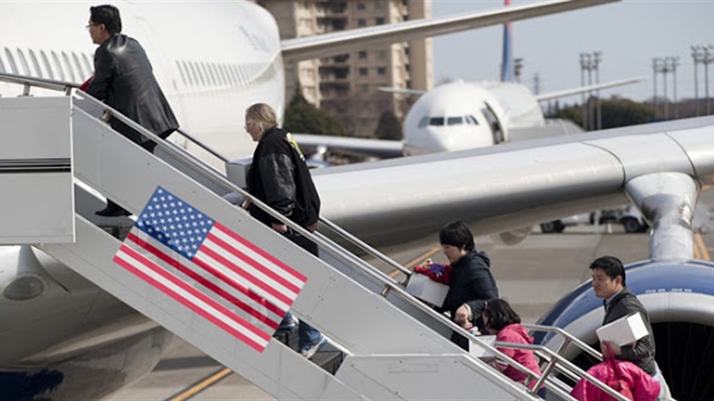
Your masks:
<svg viewBox="0 0 714 401"><path fill-rule="evenodd" d="M645 328L647 328L648 335L640 338L633 345L618 347L612 342L607 342L613 351L613 355L619 360L633 362L660 382L660 395L657 400L673 400L669 387L655 361L655 338L652 334L650 318L645 306L625 286L623 263L613 256L603 256L590 263L590 270L593 270L593 290L595 295L603 298L603 305L605 306L603 325L638 312L645 322ZM605 342L600 345L600 350L603 352L603 356L608 355L609 351L605 346Z"/></svg>

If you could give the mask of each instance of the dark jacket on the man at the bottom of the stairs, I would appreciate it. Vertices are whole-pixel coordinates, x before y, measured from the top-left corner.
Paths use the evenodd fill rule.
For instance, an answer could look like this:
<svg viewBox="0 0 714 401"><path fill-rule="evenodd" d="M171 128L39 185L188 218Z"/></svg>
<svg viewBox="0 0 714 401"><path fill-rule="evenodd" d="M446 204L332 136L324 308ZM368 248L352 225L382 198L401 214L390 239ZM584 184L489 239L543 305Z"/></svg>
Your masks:
<svg viewBox="0 0 714 401"><path fill-rule="evenodd" d="M639 312L645 321L645 327L649 335L640 338L635 345L625 345L620 347L622 353L618 356L619 360L627 360L638 365L650 376L656 372L655 368L655 341L652 335L652 327L650 326L650 318L647 315L647 310L642 305L640 300L628 288L624 288L618 295L615 295L610 306L605 312L603 325L618 320L623 316Z"/></svg>

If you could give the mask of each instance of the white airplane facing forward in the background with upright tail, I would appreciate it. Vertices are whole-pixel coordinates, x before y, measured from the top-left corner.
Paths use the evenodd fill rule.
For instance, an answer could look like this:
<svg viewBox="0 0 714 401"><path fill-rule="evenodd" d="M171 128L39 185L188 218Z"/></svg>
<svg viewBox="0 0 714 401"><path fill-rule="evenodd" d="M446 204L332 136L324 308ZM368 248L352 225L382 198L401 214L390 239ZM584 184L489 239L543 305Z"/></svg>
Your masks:
<svg viewBox="0 0 714 401"><path fill-rule="evenodd" d="M506 6L511 4L505 1ZM581 86L534 95L513 73L511 24L503 24L501 81L445 83L431 91L382 87L381 91L420 96L406 115L401 141L297 134L306 147L393 158L493 146L508 141L582 131L573 123L546 120L540 101L628 85L646 77Z"/></svg>

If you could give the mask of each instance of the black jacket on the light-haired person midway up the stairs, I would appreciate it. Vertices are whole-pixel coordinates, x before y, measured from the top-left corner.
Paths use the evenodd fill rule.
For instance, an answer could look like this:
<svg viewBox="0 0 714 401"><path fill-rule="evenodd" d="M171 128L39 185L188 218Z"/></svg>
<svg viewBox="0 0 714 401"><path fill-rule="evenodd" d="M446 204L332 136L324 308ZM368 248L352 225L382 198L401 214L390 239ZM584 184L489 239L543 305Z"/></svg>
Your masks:
<svg viewBox="0 0 714 401"><path fill-rule="evenodd" d="M268 128L258 142L248 172L248 191L302 227L318 221L320 196L305 158L290 134L281 128ZM254 205L250 210L263 223L279 222Z"/></svg>

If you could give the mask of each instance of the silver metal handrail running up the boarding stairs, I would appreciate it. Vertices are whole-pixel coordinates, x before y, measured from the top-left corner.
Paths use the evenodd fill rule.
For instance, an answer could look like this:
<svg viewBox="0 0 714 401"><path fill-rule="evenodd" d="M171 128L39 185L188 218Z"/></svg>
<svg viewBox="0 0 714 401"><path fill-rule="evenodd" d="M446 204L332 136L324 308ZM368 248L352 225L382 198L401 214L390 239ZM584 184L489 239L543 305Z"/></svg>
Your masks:
<svg viewBox="0 0 714 401"><path fill-rule="evenodd" d="M8 81L11 83L20 83L24 86L38 86L41 88L49 88L49 89L54 89L54 90L58 90L58 91L65 91L66 93L68 93L68 91L71 91L72 88L78 87L74 83L66 83L66 82L62 82L62 81L52 81L52 80L47 80L47 79L43 79L43 78L13 76L11 74L2 74L2 73L0 73L0 81ZM29 93L29 90L28 90L28 93ZM130 118L124 116L123 114L119 113L118 111L115 111L114 109L110 108L109 106L106 106L106 104L104 104L101 101L97 100L96 98L90 96L88 93L85 93L84 91L79 91L79 90L76 91L75 93L76 93L76 95L80 96L84 100L88 101L91 105L95 106L96 108L99 108L101 111L104 111L105 117L113 116L114 118L118 119L122 123L125 123L130 128L141 133L142 136L146 136L147 138L150 138L152 141L155 141L157 143L157 146L159 146L159 148L162 148L164 151L169 153L171 156L174 156L179 161L188 163L188 165L193 166L193 168L196 168L197 169L196 171L198 173L202 173L204 178L208 178L209 180L213 181L213 183L218 184L218 186L223 187L228 192L233 192L233 193L237 193L238 195L240 195L244 200L243 203L241 204L241 208L247 209L248 206L251 204L256 205L256 207L261 208L261 210L265 211L271 217L276 218L276 220L280 220L282 223L288 225L288 227L291 228L292 230L303 235L304 237L313 241L314 243L316 243L318 246L320 246L324 250L327 250L328 252L335 255L336 258L341 260L343 263L346 263L347 265L350 265L351 267L360 270L362 273L364 273L366 276L372 278L373 280L377 280L377 282L381 283L381 285L383 285L383 288L384 288L383 292L381 293L382 296L386 297L386 295L388 293L392 293L393 295L398 295L398 297L405 300L406 303L411 304L414 308L417 308L418 310L421 310L421 312L426 313L426 315L435 319L438 323L445 325L446 328L453 330L454 332L458 333L459 335L461 335L463 337L468 338L469 340L471 340L471 342L474 342L479 347L482 347L484 350L490 352L491 355L493 355L493 357L495 357L497 360L501 360L502 362L504 362L508 365L511 365L519 372L522 372L523 374L525 374L527 376L526 380L530 381L531 379L535 379L535 380L539 380L540 383L548 383L549 385L551 384L550 380L548 379L548 374L550 374L550 371L543 372L543 375L540 375L540 376L535 375L535 373L531 372L531 370L528 370L526 367L523 367L523 365L516 362L516 360L513 360L511 357L508 357L508 355L504 355L502 352L498 351L496 349L496 347L489 345L486 342L483 342L480 338L478 338L477 336L468 332L468 330L462 328L461 326L457 325L453 321L446 318L445 315L442 315L441 313L437 313L431 307L428 307L421 301L414 298L411 294L407 293L406 290L404 290L403 284L398 283L396 280L393 280L388 275L382 273L380 270L374 268L373 266L364 262L360 258L357 258L355 255L353 255L353 253L349 252L348 250L343 248L341 245L338 245L337 243L333 242L333 240L326 238L326 236L324 236L320 233L317 233L317 232L311 233L310 231L306 230L305 228L301 227L300 225L293 223L292 220L289 220L284 215L281 215L280 213L276 212L275 210L270 208L268 205L263 203L261 200L254 198L248 192L244 191L242 188L239 188L235 184L231 183L231 181L228 181L228 179L225 176L221 175L221 173L218 173L218 171L216 171L214 168L211 168L211 166L209 166L208 163L206 163L205 161L202 161L201 159L196 158L196 156L193 156L193 154L186 151L185 149L180 148L179 146L176 146L176 144L174 144L174 143L162 140L161 138L159 138L159 136L156 136L154 133L151 133L150 131L146 130L146 128L140 126L138 123L132 121ZM195 138L193 138L192 141L195 141L196 143L200 143L200 141L197 141ZM211 153L214 153L214 152L211 152ZM224 159L224 158L222 158L222 159ZM393 262L393 260L389 259L386 255L379 253L377 250L371 248L366 243L363 243L358 238L347 233L342 228L339 228L338 225L331 223L329 220L327 220L325 218L321 218L321 221L323 223L325 223L326 225L328 225L328 227L331 230L334 230L336 233L339 233L341 236L343 236L343 238L348 240L353 245L356 245L359 248L366 250L368 253L371 253L371 255L375 256L376 258L386 261L392 267L397 268L402 273L405 273L407 275L407 277L409 277L411 275L411 271L404 269L403 267L401 267L401 265L398 265L398 263ZM557 330L555 330L555 331L557 331ZM575 342L573 342L573 343L575 343ZM570 363L568 360L565 360L565 358L561 357L560 355L556 354L553 351L547 350L545 347L542 347L542 346L533 346L533 347L535 347L534 349L537 349L537 350L541 350L541 348L543 348L542 352L554 355L555 361L560 362L561 364L563 364L567 367L570 367L570 368L575 367L575 365ZM553 362L553 365L555 365L555 362ZM583 370L580 370L578 367L575 367L575 369L573 369L573 370L575 372L578 372L578 374L581 377L585 377L586 380L593 381L595 383L595 385L598 385L598 383L595 382L595 378L588 375L587 372L583 372ZM551 387L553 387L554 391L558 391L557 387L555 387L555 386L551 386ZM548 387L548 388L550 388L550 387ZM537 390L537 387L534 390L530 390L530 391L531 391L531 393L535 393L536 390ZM605 389L605 391L606 391L606 389ZM560 392L562 392L562 390ZM617 395L615 395L615 396L617 396ZM570 398L572 398L572 397L570 397Z"/></svg>

